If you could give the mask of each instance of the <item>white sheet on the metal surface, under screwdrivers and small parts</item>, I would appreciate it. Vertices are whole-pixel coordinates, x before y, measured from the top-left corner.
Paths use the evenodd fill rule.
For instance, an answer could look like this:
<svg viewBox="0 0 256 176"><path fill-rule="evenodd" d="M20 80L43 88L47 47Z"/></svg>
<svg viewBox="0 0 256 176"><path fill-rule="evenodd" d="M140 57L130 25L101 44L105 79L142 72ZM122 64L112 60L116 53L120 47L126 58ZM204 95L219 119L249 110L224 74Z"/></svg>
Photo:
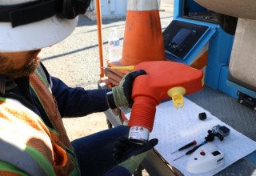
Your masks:
<svg viewBox="0 0 256 176"><path fill-rule="evenodd" d="M207 115L204 121L198 118L198 114L202 112ZM130 118L130 113L126 114L126 118ZM221 168L203 174L191 174L186 170L186 164L191 154L174 161L175 158L185 154L192 147L174 154L171 154L172 152L194 140L198 144L204 142L204 138L208 134L207 131L212 130L212 127L217 125L226 126L230 129L230 135L222 142L218 138L215 138L213 142L226 154L225 163ZM209 176L217 174L220 170L225 169L256 149L256 142L234 130L187 98L184 98L184 106L180 109L174 108L172 101L163 102L157 106L154 128L150 133L150 138L158 138L159 142L155 149L171 166L176 167L184 175Z"/></svg>

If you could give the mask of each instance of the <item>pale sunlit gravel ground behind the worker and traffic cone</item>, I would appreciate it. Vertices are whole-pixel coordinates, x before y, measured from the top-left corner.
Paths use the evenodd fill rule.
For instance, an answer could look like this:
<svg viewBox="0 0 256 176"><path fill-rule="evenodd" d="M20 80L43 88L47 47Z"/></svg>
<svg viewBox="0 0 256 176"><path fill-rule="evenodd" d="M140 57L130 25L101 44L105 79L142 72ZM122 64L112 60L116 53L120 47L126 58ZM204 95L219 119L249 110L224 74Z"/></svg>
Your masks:
<svg viewBox="0 0 256 176"><path fill-rule="evenodd" d="M163 0L160 6L162 30L168 26L173 15L173 0ZM103 58L108 58L107 38L111 27L116 27L123 40L126 18L102 19ZM78 27L64 41L42 50L42 62L50 74L61 78L68 86L97 89L100 78L97 22L79 17ZM64 119L70 140L107 129L104 113L95 113L81 118ZM143 175L147 175L143 173Z"/></svg>

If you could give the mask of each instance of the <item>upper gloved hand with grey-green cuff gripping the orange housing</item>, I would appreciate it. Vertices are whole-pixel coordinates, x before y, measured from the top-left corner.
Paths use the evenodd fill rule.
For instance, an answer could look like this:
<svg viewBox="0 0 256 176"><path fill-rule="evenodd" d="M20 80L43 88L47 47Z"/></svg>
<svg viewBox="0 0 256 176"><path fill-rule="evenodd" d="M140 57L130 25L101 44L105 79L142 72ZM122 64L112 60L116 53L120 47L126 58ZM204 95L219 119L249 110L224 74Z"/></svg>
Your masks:
<svg viewBox="0 0 256 176"><path fill-rule="evenodd" d="M139 75L146 74L144 70L137 70L126 74L122 78L118 86L112 88L114 103L117 107L119 106L133 106L134 101L131 98L131 93L133 89L134 79Z"/></svg>

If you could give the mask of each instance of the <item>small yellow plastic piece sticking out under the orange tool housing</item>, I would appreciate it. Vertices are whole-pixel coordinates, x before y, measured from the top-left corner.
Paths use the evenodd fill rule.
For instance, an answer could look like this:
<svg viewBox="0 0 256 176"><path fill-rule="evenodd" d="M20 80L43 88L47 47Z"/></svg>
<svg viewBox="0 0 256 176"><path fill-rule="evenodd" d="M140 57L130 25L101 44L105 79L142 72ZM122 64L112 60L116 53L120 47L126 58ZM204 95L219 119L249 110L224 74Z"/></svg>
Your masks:
<svg viewBox="0 0 256 176"><path fill-rule="evenodd" d="M174 107L178 108L183 107L184 100L183 100L183 94L186 94L186 89L182 86L173 87L170 90L168 90L167 94L173 99Z"/></svg>

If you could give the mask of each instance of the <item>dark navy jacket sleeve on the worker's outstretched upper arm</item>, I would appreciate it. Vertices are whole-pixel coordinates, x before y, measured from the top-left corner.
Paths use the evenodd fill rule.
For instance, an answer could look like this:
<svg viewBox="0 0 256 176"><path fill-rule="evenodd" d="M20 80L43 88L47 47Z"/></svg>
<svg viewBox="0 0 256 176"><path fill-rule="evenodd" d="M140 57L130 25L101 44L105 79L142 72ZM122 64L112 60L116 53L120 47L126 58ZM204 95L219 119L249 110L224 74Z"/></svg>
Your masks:
<svg viewBox="0 0 256 176"><path fill-rule="evenodd" d="M50 76L46 68L42 67L46 72L62 117L81 117L109 108L106 99L107 89L85 90L82 87L69 87L59 78Z"/></svg>

